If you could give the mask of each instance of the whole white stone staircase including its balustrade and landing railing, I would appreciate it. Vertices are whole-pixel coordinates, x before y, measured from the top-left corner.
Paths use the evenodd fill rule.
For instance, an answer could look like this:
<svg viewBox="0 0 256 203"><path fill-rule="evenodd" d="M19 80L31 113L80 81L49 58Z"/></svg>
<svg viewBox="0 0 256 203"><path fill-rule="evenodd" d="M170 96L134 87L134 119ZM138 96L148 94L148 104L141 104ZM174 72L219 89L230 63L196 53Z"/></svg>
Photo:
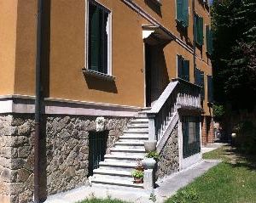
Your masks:
<svg viewBox="0 0 256 203"><path fill-rule="evenodd" d="M170 82L151 108L139 112L119 141L104 156L99 168L93 171L93 185L123 186L143 189L143 183L133 183L131 172L137 159L145 155L144 141L156 140L160 153L179 119L177 110L201 112L201 87L175 79Z"/></svg>

